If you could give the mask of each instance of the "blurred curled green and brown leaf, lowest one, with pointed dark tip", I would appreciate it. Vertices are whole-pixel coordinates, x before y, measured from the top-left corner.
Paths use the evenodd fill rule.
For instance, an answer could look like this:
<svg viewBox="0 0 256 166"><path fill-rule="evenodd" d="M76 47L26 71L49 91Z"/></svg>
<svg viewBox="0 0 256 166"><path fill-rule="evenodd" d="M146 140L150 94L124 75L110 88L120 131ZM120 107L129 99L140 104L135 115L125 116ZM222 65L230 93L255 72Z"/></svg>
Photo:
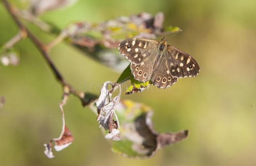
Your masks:
<svg viewBox="0 0 256 166"><path fill-rule="evenodd" d="M161 148L187 138L188 131L158 133L153 128L151 108L130 100L120 101L116 106L120 118L120 139L112 143L112 150L125 157L146 159Z"/></svg>

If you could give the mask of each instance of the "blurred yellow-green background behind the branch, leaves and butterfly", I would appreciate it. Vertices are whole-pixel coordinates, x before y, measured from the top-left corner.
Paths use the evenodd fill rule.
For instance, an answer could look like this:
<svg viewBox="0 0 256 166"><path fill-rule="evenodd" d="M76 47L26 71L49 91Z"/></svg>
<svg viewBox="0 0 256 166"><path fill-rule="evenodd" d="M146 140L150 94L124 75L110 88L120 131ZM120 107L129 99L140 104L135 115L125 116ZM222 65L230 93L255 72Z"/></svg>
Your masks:
<svg viewBox="0 0 256 166"><path fill-rule="evenodd" d="M256 1L250 0L80 0L43 14L42 19L64 28L78 20L101 22L121 15L163 12L165 25L183 29L168 43L191 54L201 72L180 79L167 90L151 86L122 98L152 107L157 131L189 129L190 133L188 139L162 149L151 159L125 158L111 152L94 113L71 95L64 110L75 141L48 159L43 143L59 136L62 88L38 50L25 39L15 46L21 63L0 66L0 95L6 97L0 110L1 165L256 165L255 11ZM29 28L44 42L53 39ZM1 3L0 45L17 30ZM98 94L100 84L120 75L65 43L55 46L50 55L77 89L94 85L86 90Z"/></svg>

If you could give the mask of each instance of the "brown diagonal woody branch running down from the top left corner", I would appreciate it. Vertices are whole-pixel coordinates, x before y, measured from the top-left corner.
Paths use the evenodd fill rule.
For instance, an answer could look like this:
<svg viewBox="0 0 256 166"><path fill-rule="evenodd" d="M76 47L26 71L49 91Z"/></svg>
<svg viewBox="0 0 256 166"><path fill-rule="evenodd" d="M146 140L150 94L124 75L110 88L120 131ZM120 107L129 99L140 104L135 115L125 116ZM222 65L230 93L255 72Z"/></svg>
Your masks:
<svg viewBox="0 0 256 166"><path fill-rule="evenodd" d="M62 76L62 74L60 73L60 71L56 68L56 66L54 65L52 59L50 58L49 54L48 54L48 47L46 45L44 45L42 42L40 42L40 40L38 40L33 33L31 33L25 26L24 24L18 19L17 16L17 10L16 8L12 7L11 4L9 4L8 1L6 0L2 0L4 6L6 7L7 11L9 12L9 14L11 14L14 22L16 22L16 24L18 25L20 32L17 35L17 38L14 38L13 40L15 41L11 41L11 43L13 42L17 42L16 40L21 40L22 38L28 37L33 44L37 47L37 49L40 51L40 53L42 54L42 56L44 57L44 59L47 61L48 65L50 66L50 68L53 71L53 74L55 75L55 77L57 78L57 80L60 82L60 84L62 84L63 87L68 87L70 94L74 94L76 97L78 97L82 104L84 105L84 92L79 92L77 90L75 90L71 85L68 84L68 82L66 82L66 80L64 79L64 77ZM7 45L9 46L9 45Z"/></svg>

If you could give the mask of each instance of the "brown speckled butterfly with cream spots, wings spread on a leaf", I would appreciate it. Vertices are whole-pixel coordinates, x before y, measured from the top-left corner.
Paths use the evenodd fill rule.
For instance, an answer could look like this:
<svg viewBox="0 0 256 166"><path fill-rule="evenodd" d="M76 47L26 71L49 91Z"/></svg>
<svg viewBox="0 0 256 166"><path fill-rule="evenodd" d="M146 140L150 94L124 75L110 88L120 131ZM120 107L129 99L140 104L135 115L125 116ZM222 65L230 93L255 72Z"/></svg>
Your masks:
<svg viewBox="0 0 256 166"><path fill-rule="evenodd" d="M157 87L169 87L178 78L193 77L200 71L192 56L167 45L165 37L160 42L144 38L126 39L119 43L118 49L131 62L135 80L151 80Z"/></svg>

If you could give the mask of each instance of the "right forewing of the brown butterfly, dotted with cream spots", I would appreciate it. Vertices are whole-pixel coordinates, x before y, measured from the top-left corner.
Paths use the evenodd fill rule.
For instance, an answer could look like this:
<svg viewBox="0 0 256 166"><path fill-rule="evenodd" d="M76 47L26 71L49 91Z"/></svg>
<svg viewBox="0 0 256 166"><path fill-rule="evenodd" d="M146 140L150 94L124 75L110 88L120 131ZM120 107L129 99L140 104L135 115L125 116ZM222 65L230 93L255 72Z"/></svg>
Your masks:
<svg viewBox="0 0 256 166"><path fill-rule="evenodd" d="M192 56L171 45L168 45L167 51L167 65L172 76L192 77L199 73L199 65Z"/></svg>

